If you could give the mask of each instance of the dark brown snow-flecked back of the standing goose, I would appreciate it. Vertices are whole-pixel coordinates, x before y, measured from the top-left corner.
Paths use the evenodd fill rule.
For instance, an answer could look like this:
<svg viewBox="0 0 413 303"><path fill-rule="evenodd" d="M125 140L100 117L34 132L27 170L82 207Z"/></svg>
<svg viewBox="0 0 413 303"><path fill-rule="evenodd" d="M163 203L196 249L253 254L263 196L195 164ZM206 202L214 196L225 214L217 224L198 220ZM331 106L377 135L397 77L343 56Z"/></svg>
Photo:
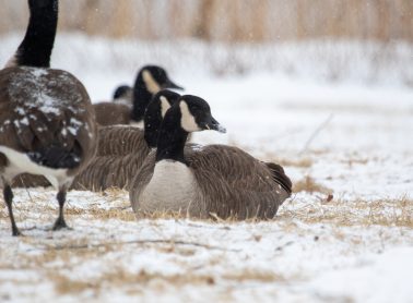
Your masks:
<svg viewBox="0 0 413 303"><path fill-rule="evenodd" d="M0 152L26 154L75 174L95 153L96 126L84 86L70 73L35 68L0 71Z"/></svg>

